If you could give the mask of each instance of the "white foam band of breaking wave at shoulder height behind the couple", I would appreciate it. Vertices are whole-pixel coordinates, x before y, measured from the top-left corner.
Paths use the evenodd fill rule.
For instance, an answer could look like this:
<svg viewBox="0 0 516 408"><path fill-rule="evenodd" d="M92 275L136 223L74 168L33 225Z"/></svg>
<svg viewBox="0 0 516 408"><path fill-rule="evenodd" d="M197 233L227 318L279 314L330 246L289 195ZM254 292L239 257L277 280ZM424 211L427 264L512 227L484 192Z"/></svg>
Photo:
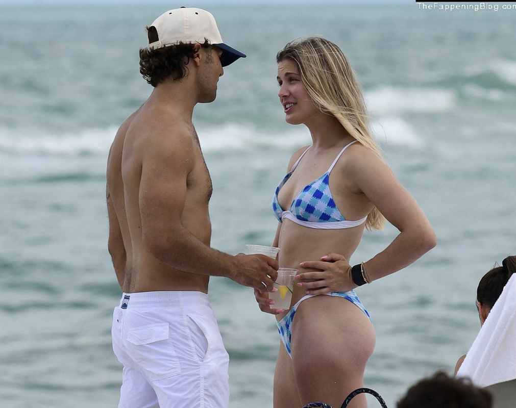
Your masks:
<svg viewBox="0 0 516 408"><path fill-rule="evenodd" d="M372 129L379 143L421 146L420 136L405 119L395 115L375 118ZM202 151L206 154L248 152L256 150L293 151L311 144L309 130L304 126L282 126L260 129L255 125L225 123L217 127L197 127ZM39 133L21 129L0 129L0 153L20 156L105 156L117 132L116 126L88 128L72 133Z"/></svg>

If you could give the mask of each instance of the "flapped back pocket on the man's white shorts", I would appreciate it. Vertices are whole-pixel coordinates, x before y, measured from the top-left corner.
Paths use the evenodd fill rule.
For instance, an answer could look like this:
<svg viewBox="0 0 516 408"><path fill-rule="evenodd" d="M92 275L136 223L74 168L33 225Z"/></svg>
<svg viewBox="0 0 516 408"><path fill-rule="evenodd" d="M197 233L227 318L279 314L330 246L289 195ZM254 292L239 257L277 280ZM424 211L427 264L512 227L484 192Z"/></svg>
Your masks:
<svg viewBox="0 0 516 408"><path fill-rule="evenodd" d="M163 380L181 373L168 323L128 329L127 342L127 351L134 355L150 381Z"/></svg>

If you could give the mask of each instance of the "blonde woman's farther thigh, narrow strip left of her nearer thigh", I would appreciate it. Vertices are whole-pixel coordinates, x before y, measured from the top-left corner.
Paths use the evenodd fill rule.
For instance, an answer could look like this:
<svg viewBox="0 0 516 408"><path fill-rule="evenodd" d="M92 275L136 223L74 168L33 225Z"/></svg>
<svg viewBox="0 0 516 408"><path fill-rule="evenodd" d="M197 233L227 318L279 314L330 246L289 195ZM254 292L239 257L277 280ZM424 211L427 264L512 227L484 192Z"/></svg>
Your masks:
<svg viewBox="0 0 516 408"><path fill-rule="evenodd" d="M292 359L280 341L280 351L274 371L274 408L301 408L294 379Z"/></svg>

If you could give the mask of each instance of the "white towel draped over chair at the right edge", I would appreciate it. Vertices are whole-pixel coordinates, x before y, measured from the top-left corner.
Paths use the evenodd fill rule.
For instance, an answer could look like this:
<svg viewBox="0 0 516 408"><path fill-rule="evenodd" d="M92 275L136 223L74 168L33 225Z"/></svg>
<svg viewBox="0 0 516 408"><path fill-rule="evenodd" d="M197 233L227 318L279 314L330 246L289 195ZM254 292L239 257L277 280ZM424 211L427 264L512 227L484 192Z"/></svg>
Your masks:
<svg viewBox="0 0 516 408"><path fill-rule="evenodd" d="M457 377L487 387L516 379L516 274L494 304Z"/></svg>

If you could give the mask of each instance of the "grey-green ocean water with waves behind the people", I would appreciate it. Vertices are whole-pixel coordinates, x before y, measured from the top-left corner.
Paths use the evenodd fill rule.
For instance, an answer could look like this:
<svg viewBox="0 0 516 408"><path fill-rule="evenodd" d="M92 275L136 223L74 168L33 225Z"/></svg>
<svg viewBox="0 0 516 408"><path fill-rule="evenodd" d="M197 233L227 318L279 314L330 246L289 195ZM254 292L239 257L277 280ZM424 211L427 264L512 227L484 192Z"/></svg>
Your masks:
<svg viewBox="0 0 516 408"><path fill-rule="evenodd" d="M117 405L110 325L120 288L106 250L105 162L117 127L151 92L138 48L166 9L0 8L3 408ZM275 55L312 34L348 55L386 160L436 230L435 249L357 290L377 332L365 384L394 407L417 379L453 372L479 329L480 277L516 254L516 10L208 9L224 40L248 54L194 115L213 178L215 248L236 254L273 238L273 189L310 142L284 122ZM366 233L351 263L396 233ZM230 280L212 279L209 296L231 357L231 408L272 406L275 319Z"/></svg>

